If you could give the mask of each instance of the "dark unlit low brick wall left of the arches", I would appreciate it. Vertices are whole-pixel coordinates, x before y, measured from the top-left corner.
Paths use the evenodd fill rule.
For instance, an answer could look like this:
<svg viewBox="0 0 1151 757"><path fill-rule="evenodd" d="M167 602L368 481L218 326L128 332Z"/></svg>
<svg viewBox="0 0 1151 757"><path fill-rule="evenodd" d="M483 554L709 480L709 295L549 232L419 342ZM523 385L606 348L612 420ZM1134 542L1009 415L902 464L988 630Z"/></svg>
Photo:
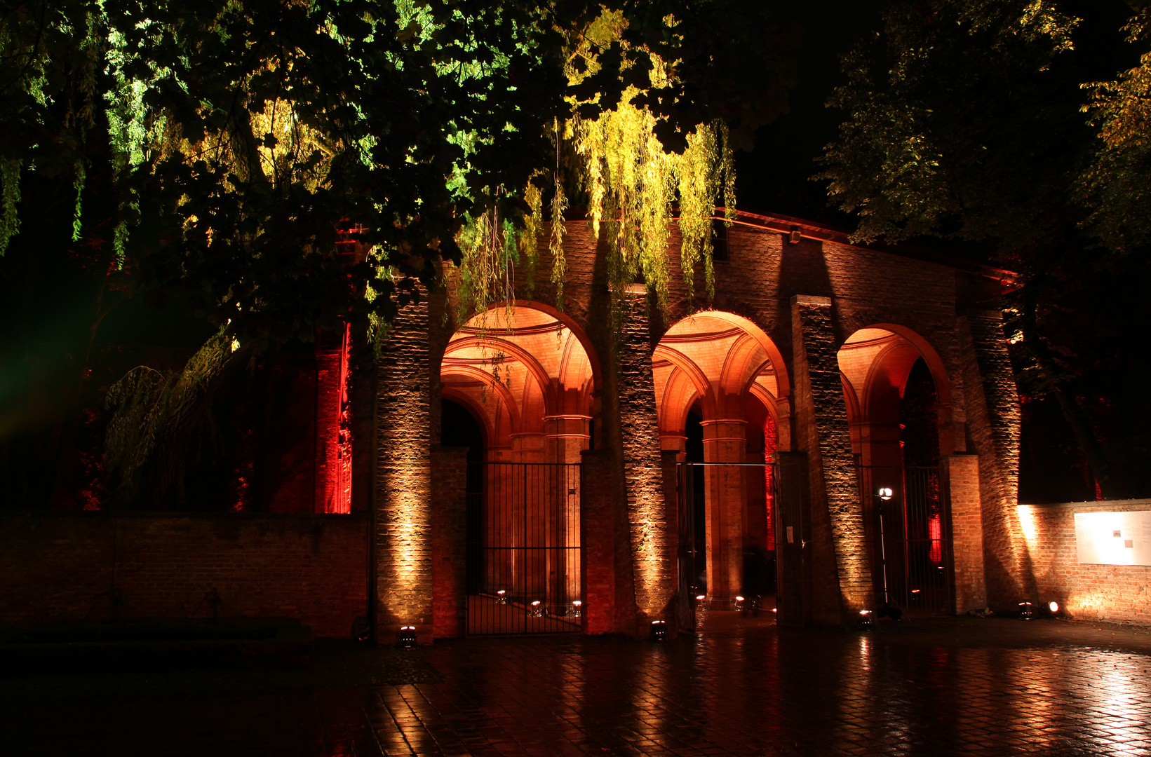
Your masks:
<svg viewBox="0 0 1151 757"><path fill-rule="evenodd" d="M297 618L317 636L346 637L367 614L367 518L0 514L2 626L108 618L97 596L113 569L124 619L211 617L200 603L214 587L223 618Z"/></svg>

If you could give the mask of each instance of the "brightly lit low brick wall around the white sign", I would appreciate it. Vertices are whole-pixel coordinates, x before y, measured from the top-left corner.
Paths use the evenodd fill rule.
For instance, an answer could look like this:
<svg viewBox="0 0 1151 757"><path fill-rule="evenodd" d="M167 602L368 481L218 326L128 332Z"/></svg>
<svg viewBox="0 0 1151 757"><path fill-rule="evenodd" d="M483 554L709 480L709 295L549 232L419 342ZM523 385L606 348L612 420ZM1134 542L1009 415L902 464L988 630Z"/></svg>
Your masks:
<svg viewBox="0 0 1151 757"><path fill-rule="evenodd" d="M1151 566L1080 565L1075 513L1151 510L1151 499L1020 505L1019 541L1030 556L1039 602L1076 617L1151 624Z"/></svg>

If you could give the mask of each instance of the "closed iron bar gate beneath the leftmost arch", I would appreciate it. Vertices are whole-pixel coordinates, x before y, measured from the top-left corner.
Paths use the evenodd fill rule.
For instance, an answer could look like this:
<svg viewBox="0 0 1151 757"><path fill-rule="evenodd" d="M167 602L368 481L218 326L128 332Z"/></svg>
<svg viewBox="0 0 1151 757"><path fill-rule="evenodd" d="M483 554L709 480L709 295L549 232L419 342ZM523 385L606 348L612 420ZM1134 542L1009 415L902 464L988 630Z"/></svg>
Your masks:
<svg viewBox="0 0 1151 757"><path fill-rule="evenodd" d="M579 632L578 462L472 464L467 497L467 633Z"/></svg>

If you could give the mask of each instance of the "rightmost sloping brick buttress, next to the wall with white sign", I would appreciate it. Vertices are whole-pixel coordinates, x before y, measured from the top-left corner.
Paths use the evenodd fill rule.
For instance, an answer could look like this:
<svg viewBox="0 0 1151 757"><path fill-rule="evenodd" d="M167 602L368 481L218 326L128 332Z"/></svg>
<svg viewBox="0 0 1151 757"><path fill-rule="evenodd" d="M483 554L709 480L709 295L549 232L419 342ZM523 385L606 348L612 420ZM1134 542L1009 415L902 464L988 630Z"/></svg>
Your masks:
<svg viewBox="0 0 1151 757"><path fill-rule="evenodd" d="M958 326L967 430L980 459L988 604L1015 611L1035 592L1027 548L1015 537L1021 533L1015 376L999 311L970 311Z"/></svg>

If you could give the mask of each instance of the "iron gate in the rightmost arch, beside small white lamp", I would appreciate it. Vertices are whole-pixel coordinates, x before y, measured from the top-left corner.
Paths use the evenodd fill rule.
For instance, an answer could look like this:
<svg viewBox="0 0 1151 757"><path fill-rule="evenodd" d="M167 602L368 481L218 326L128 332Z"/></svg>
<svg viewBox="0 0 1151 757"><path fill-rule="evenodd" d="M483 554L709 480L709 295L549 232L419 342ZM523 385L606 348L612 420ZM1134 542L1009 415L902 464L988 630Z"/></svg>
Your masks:
<svg viewBox="0 0 1151 757"><path fill-rule="evenodd" d="M939 468L861 466L859 482L876 601L884 601L886 567L892 604L950 612L951 523ZM881 489L890 489L891 498Z"/></svg>

